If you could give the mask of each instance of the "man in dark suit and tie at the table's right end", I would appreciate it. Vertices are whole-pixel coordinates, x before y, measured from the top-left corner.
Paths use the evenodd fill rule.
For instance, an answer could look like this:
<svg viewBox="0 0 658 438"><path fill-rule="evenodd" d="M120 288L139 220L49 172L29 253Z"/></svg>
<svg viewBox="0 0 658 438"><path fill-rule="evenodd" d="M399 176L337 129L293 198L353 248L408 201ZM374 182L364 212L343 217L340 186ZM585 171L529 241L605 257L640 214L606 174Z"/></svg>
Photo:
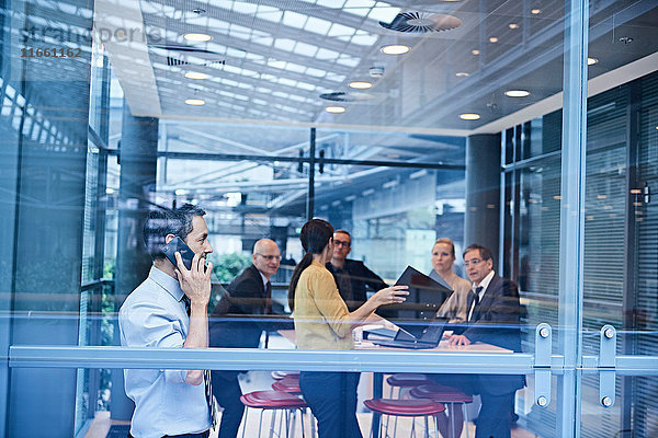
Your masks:
<svg viewBox="0 0 658 438"><path fill-rule="evenodd" d="M464 267L473 284L467 302L467 324L462 333L449 336L451 346L475 342L521 351L520 303L517 285L494 270L489 249L472 244L464 251ZM479 394L481 407L476 438L509 438L513 399L523 388L524 376L436 374L439 383Z"/></svg>

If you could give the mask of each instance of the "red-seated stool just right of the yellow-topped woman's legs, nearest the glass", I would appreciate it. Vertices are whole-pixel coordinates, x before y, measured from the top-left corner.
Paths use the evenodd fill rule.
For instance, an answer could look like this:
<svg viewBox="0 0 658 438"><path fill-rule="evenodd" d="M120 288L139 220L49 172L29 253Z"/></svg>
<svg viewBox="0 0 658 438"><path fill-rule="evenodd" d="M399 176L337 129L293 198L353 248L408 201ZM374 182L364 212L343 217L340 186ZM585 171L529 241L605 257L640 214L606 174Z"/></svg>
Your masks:
<svg viewBox="0 0 658 438"><path fill-rule="evenodd" d="M424 417L426 418L426 437L429 437L428 417L434 417L434 433L439 436L439 428L436 424L436 415L445 411L445 406L441 403L431 400L390 400L390 399L371 399L363 402L365 406L382 415L397 417ZM388 436L388 427L386 427L386 436ZM397 433L396 427L393 430L393 436ZM416 435L416 422L411 420L411 434L409 437ZM379 430L377 430L377 437L382 437L382 423L379 423Z"/></svg>

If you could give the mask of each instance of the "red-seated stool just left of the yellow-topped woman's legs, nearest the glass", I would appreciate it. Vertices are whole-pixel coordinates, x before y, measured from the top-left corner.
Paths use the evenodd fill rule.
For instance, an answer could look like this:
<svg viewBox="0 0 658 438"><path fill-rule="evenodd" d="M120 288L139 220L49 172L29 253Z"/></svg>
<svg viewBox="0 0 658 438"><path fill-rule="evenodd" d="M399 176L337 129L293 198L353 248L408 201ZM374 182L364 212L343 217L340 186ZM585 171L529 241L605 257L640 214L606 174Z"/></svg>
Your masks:
<svg viewBox="0 0 658 438"><path fill-rule="evenodd" d="M296 411L299 410L302 412L302 437L304 437L304 411L308 407L306 402L293 394L281 391L253 391L248 394L243 394L240 396L240 401L245 405L245 424L242 429L242 438L245 438L245 433L247 430L247 411L249 407L261 410L259 425L258 425L258 436L260 438L261 428L263 424L263 412L273 411L272 412L272 423L270 426L270 436L274 434L274 423L276 422L276 411ZM282 417L283 418L283 417ZM279 436L281 436L281 423L279 422ZM291 429L288 415L285 416L285 436L288 436L288 430Z"/></svg>

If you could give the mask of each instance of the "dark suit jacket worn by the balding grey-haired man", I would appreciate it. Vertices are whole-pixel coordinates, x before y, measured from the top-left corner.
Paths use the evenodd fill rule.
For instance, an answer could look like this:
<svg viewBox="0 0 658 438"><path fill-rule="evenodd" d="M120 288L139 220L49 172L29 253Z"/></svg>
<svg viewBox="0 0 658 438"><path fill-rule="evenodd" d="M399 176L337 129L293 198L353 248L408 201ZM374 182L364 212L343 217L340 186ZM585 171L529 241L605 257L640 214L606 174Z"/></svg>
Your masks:
<svg viewBox="0 0 658 438"><path fill-rule="evenodd" d="M266 330L265 323L258 318L240 316L265 314L263 278L258 268L251 265L237 276L227 289L230 296L223 298L211 314L209 346L258 347L261 332Z"/></svg>

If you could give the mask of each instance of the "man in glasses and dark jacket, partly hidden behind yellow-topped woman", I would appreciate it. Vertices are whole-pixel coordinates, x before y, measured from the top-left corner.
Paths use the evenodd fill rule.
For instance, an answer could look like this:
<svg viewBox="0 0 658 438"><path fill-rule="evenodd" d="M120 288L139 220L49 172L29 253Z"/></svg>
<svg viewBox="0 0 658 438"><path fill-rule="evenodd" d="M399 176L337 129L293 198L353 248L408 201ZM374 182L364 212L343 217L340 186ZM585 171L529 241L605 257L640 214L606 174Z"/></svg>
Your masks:
<svg viewBox="0 0 658 438"><path fill-rule="evenodd" d="M352 251L352 237L345 230L333 232L333 253L327 269L333 275L340 296L348 304L350 312L359 309L367 301L367 291L376 292L388 285L363 262L348 258Z"/></svg>

